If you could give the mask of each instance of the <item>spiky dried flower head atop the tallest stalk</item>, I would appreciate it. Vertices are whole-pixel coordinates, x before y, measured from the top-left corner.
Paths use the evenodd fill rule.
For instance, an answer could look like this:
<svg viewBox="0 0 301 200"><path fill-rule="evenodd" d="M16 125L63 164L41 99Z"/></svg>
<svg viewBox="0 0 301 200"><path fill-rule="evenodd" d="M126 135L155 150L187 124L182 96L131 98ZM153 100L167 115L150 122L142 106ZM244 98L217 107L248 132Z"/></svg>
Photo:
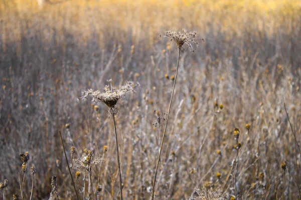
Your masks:
<svg viewBox="0 0 301 200"><path fill-rule="evenodd" d="M181 49L184 44L187 44L188 47L194 51L192 44L195 43L198 45L198 42L196 41L197 32L187 32L186 29L182 29L182 31L171 31L167 30L165 31L164 35L160 35L160 37L167 37L171 41L175 41L177 44L177 47Z"/></svg>

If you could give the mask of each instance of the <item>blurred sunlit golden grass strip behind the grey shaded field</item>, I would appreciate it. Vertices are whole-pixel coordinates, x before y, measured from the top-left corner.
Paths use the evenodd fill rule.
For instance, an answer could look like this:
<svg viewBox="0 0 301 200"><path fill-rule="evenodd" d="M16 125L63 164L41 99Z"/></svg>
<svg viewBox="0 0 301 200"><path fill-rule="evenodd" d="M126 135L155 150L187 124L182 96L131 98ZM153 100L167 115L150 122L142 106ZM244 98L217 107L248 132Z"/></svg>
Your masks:
<svg viewBox="0 0 301 200"><path fill-rule="evenodd" d="M108 31L132 31L135 43L156 40L162 29L178 29L179 25L200 33L209 30L208 23L225 31L228 37L241 35L244 29L267 30L294 28L301 12L299 0L52 0L39 6L35 0L10 0L0 5L7 41L20 40L21 24L44 29L44 37L56 31L71 31L78 42L86 42ZM140 20L142 19L142 20ZM288 23L291 22L291 23ZM115 27L118 27L116 32ZM50 34L51 35L51 34Z"/></svg>

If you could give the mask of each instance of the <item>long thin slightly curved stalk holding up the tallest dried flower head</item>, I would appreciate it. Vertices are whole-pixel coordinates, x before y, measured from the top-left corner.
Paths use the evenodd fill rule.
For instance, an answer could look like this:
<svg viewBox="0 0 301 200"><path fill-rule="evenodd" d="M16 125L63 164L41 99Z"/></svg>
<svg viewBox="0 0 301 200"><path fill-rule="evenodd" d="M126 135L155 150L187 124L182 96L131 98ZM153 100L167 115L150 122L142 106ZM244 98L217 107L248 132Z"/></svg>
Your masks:
<svg viewBox="0 0 301 200"><path fill-rule="evenodd" d="M154 184L153 184L153 194L152 194L152 199L153 200L155 199L155 186L156 186L156 178L157 178L157 173L158 173L158 167L159 167L159 163L160 163L161 152L162 152L162 148L163 148L163 143L164 143L164 138L165 138L165 134L166 134L166 129L167 129L167 124L168 124L169 114L170 114L170 111L171 111L172 102L173 102L173 96L174 96L174 91L175 91L175 86L176 86L176 80L177 80L178 69L179 69L179 62L180 62L180 53L181 53L181 47L179 47L179 55L178 55L178 63L177 63L177 70L176 70L176 75L175 75L175 81L174 81L174 86L173 86L171 101L170 101L169 108L168 108L167 119L166 119L166 124L165 124L164 132L163 132L163 137L162 137L162 142L161 142L161 146L160 146L159 156L158 156L158 159L157 159L157 166L156 166L155 179L154 179Z"/></svg>

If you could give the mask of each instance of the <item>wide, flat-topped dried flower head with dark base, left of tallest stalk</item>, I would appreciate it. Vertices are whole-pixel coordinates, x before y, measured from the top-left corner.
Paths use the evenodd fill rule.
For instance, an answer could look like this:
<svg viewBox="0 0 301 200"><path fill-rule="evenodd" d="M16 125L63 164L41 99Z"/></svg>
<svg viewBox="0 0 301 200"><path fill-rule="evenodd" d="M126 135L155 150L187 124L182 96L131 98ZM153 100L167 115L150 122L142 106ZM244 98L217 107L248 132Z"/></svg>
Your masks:
<svg viewBox="0 0 301 200"><path fill-rule="evenodd" d="M83 91L83 96L79 99L87 99L87 97L92 97L92 102L104 102L107 106L109 106L110 111L114 111L114 114L118 113L118 109L116 107L117 101L122 98L126 93L135 92L133 89L135 86L139 85L138 82L135 84L132 81L127 81L125 84L120 85L119 87L112 86L112 80L108 80L110 82L110 86L106 85L104 87L104 92L94 89L88 89Z"/></svg>

